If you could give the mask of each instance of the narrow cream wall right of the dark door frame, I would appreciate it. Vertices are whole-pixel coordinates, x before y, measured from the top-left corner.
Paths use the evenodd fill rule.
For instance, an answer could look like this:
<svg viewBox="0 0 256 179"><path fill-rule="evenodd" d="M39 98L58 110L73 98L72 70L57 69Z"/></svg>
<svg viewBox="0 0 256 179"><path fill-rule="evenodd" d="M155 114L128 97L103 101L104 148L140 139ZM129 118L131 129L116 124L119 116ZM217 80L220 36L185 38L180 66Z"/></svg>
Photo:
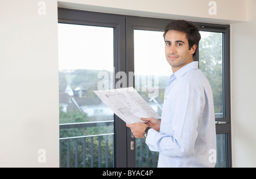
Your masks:
<svg viewBox="0 0 256 179"><path fill-rule="evenodd" d="M256 1L249 21L232 24L233 166L256 167Z"/></svg>

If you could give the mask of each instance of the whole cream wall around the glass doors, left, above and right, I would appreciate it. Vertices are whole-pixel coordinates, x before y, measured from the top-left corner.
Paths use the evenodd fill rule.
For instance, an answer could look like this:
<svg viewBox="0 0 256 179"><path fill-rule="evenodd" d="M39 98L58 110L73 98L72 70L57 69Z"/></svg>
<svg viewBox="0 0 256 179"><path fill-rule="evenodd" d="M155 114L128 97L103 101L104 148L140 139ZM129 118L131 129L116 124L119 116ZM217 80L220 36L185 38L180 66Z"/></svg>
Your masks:
<svg viewBox="0 0 256 179"><path fill-rule="evenodd" d="M0 166L59 166L57 0L0 0ZM233 166L256 166L254 0L62 0L59 7L232 24ZM249 12L249 13L248 13ZM45 149L46 163L38 162Z"/></svg>

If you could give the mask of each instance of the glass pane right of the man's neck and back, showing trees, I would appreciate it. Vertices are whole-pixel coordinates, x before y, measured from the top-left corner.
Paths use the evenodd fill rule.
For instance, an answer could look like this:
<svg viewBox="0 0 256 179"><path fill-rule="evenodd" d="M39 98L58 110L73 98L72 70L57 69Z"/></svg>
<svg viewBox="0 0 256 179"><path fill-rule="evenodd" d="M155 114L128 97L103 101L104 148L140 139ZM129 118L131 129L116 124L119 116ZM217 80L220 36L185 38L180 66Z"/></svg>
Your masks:
<svg viewBox="0 0 256 179"><path fill-rule="evenodd" d="M212 86L216 118L223 118L222 33L200 32L199 68Z"/></svg>

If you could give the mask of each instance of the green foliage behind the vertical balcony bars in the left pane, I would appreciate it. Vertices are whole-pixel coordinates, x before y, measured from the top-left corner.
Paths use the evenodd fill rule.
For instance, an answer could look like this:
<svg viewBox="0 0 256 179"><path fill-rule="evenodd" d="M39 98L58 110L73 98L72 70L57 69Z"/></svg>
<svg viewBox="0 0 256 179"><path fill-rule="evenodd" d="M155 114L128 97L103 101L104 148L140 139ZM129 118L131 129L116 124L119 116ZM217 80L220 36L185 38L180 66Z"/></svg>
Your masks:
<svg viewBox="0 0 256 179"><path fill-rule="evenodd" d="M113 147L113 135L60 140L60 167L113 167Z"/></svg>

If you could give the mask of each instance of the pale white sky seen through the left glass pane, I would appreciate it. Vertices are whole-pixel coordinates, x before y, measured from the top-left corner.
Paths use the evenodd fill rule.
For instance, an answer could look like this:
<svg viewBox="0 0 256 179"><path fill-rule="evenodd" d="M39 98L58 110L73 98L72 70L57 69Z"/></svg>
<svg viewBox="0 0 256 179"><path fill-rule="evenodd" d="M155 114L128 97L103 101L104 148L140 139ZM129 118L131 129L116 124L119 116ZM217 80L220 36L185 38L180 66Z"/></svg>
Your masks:
<svg viewBox="0 0 256 179"><path fill-rule="evenodd" d="M113 28L61 23L58 28L60 70L113 71Z"/></svg>

